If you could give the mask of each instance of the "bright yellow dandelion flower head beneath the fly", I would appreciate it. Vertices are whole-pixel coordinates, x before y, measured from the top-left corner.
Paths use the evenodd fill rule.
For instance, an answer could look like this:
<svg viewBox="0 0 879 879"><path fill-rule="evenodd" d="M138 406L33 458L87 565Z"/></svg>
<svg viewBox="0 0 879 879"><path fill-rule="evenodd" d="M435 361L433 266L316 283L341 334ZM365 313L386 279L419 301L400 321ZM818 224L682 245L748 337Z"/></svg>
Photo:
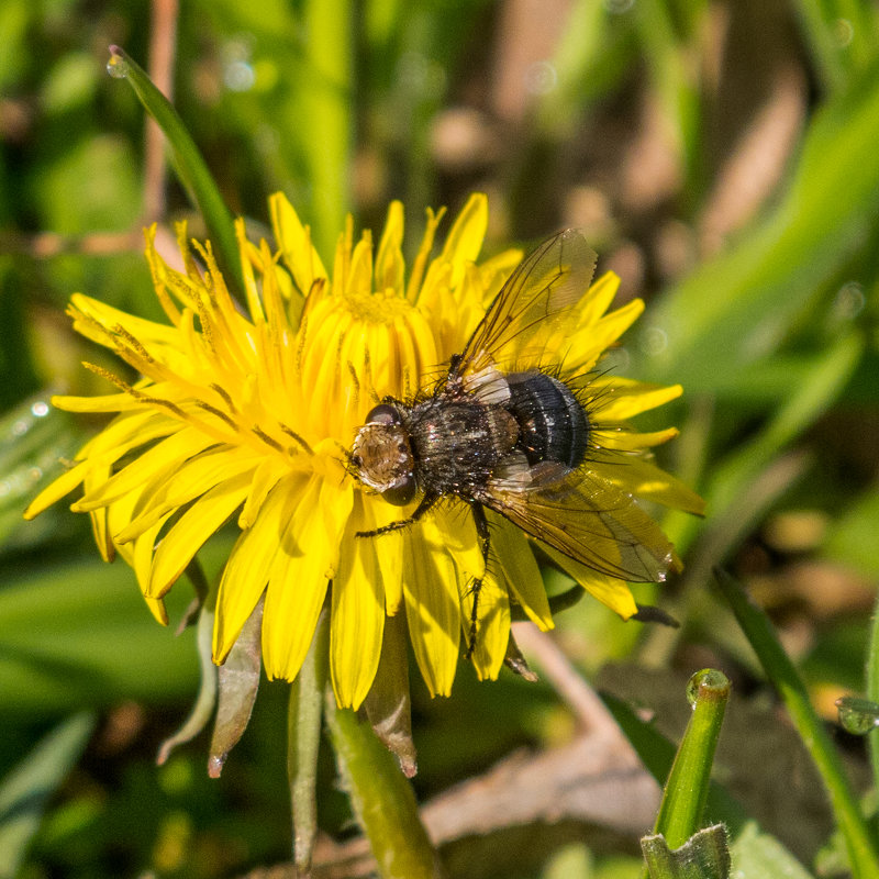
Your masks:
<svg viewBox="0 0 879 879"><path fill-rule="evenodd" d="M394 202L378 248L349 220L327 271L290 203L271 200L278 252L251 244L238 224L244 314L230 296L210 246L180 230L185 271L146 256L167 323L154 323L88 297L73 297L75 327L114 351L141 376L127 383L92 367L119 389L97 398L60 397L62 409L115 418L77 455L75 466L34 500L36 515L80 483L71 509L91 516L105 559L119 553L136 572L156 617L163 598L196 553L231 516L241 534L216 597L213 657L223 663L265 594L263 663L270 678L299 672L330 596L330 668L336 699L358 706L376 679L388 617L404 613L414 654L434 694L449 692L482 580L472 661L493 678L507 654L511 603L542 628L553 625L528 539L492 516L485 566L472 519L461 503L434 507L418 523L358 537L411 515L351 472L349 449L365 416L385 397L412 399L435 387L443 363L460 353L519 262L505 253L476 263L488 208L474 196L432 257L442 219L427 214L407 277L403 213ZM610 314L619 279L605 275L577 305L561 369L586 376L632 324L639 301ZM564 376L561 376L564 378ZM596 485L669 507L701 511L691 491L658 469L648 450L674 429L636 433L627 420L680 393L591 374L580 391ZM609 489L610 490L610 489ZM623 617L636 611L620 579L560 553L557 561ZM674 563L672 563L674 564Z"/></svg>

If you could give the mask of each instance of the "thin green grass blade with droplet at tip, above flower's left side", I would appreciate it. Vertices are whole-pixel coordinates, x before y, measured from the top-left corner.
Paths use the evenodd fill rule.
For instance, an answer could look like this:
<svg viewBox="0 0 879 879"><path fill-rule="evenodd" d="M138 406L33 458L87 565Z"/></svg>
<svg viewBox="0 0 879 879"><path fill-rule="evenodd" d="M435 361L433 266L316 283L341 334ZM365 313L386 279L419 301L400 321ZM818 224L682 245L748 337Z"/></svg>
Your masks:
<svg viewBox="0 0 879 879"><path fill-rule="evenodd" d="M244 282L232 214L183 121L146 73L119 46L110 46L107 69L114 78L127 81L144 110L153 116L168 138L174 169L190 200L204 218L208 235L226 283L234 292L241 293Z"/></svg>

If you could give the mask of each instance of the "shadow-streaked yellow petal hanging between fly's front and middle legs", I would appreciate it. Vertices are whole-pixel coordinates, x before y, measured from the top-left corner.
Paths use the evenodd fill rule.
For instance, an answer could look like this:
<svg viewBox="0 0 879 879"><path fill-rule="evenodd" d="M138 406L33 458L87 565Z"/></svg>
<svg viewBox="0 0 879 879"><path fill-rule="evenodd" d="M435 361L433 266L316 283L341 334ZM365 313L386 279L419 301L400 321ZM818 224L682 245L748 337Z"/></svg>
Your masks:
<svg viewBox="0 0 879 879"><path fill-rule="evenodd" d="M430 520L403 539L403 596L415 661L431 696L448 696L460 643L457 571L443 546L445 534Z"/></svg>

